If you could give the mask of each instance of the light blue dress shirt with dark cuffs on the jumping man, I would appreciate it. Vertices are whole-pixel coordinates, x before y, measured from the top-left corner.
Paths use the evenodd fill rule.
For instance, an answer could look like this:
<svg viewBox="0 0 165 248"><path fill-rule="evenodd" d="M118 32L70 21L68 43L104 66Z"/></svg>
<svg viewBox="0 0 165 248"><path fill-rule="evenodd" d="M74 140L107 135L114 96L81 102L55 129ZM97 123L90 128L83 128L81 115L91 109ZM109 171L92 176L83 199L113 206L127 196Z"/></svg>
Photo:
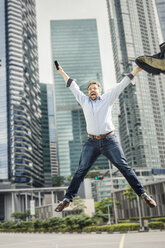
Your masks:
<svg viewBox="0 0 165 248"><path fill-rule="evenodd" d="M86 125L87 133L91 135L104 135L115 129L112 123L112 106L120 93L132 81L128 76L124 77L120 83L110 91L99 96L95 101L92 101L89 96L86 96L73 80L70 85L70 90L76 97L76 100L81 105Z"/></svg>

